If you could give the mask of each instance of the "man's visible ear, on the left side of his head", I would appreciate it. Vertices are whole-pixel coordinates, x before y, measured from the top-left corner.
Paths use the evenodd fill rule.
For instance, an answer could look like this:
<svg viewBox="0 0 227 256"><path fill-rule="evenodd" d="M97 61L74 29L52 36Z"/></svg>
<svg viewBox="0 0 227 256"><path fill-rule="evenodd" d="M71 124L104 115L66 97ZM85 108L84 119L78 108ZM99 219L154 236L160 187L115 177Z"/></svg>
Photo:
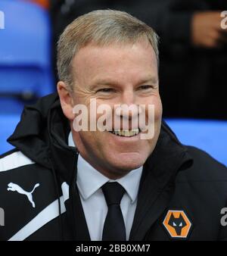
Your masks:
<svg viewBox="0 0 227 256"><path fill-rule="evenodd" d="M57 89L65 117L67 117L68 120L73 120L75 117L73 114L73 92L71 92L68 86L62 81L58 82Z"/></svg>

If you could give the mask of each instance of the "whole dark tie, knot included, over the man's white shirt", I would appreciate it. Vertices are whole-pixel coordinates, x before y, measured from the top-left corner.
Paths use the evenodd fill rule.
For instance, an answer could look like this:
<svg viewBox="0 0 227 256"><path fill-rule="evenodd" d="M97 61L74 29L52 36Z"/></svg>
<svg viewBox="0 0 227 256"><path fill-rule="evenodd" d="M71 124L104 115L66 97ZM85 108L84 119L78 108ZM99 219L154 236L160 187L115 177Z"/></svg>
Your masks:
<svg viewBox="0 0 227 256"><path fill-rule="evenodd" d="M126 241L126 226L120 210L120 201L125 189L119 183L105 183L102 191L107 202L108 212L102 233L103 241Z"/></svg>

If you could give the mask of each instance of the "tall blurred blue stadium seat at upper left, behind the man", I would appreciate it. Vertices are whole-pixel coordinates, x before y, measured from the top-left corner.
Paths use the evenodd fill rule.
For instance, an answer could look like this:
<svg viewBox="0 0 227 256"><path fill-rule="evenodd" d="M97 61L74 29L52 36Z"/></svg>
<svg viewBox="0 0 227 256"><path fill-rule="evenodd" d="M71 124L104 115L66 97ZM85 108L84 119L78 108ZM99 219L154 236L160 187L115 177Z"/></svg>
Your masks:
<svg viewBox="0 0 227 256"><path fill-rule="evenodd" d="M50 20L30 2L1 0L0 11L0 114L19 114L24 103L53 91Z"/></svg>

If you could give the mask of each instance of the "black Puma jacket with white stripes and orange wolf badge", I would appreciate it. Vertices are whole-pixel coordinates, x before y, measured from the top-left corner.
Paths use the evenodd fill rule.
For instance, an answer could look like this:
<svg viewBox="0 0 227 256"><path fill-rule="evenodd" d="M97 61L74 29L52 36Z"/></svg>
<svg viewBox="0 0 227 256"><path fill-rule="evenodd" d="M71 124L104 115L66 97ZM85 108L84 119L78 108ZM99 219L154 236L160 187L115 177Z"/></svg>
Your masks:
<svg viewBox="0 0 227 256"><path fill-rule="evenodd" d="M57 94L24 109L8 139L15 149L0 158L1 240L89 240L69 133ZM227 239L226 199L226 167L182 145L163 122L143 168L130 240Z"/></svg>

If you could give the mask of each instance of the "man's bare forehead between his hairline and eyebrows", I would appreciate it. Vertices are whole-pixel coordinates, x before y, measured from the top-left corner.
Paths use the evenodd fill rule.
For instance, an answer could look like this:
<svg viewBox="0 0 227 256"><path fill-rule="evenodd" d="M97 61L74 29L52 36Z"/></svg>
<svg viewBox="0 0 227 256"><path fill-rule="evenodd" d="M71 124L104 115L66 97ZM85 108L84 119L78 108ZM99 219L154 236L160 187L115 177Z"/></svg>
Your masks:
<svg viewBox="0 0 227 256"><path fill-rule="evenodd" d="M72 67L76 80L87 84L97 79L129 81L157 76L157 58L148 42L88 45L76 53Z"/></svg>

